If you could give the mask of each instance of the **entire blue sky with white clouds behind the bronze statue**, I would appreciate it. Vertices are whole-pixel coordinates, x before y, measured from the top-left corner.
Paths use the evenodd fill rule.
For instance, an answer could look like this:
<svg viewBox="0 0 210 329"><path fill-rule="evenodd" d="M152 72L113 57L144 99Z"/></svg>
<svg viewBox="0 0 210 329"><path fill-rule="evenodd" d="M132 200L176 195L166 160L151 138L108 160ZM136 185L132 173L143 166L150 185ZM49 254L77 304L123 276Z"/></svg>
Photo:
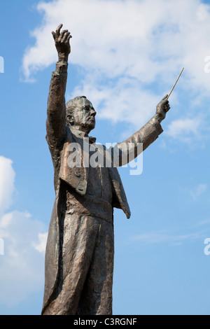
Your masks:
<svg viewBox="0 0 210 329"><path fill-rule="evenodd" d="M66 100L92 101L103 144L139 130L185 67L142 174L119 169L132 217L114 213L113 314L209 315L210 1L8 0L0 13L0 314L41 313L55 198L50 31L62 22L73 36Z"/></svg>

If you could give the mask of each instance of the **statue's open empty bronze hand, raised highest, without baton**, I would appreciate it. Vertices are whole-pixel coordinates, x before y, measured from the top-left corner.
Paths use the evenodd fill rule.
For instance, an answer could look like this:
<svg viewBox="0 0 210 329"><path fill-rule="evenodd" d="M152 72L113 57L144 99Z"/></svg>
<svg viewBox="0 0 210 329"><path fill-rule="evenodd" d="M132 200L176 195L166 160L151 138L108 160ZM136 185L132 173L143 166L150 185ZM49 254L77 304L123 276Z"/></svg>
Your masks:
<svg viewBox="0 0 210 329"><path fill-rule="evenodd" d="M55 47L57 49L59 61L68 60L68 56L71 52L70 38L72 38L70 32L64 29L61 32L62 24L57 27L57 30L52 31L52 36L55 40Z"/></svg>

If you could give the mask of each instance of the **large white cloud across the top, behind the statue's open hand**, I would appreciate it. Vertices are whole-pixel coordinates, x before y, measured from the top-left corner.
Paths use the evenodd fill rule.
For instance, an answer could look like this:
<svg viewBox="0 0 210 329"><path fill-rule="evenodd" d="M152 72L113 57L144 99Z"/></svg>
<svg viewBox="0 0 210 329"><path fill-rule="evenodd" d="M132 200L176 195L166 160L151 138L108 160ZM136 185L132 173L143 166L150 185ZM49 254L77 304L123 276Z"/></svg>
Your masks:
<svg viewBox="0 0 210 329"><path fill-rule="evenodd" d="M27 77L57 59L50 32L63 22L73 35L71 63L84 69L151 83L161 77L173 81L186 66L191 82L200 85L207 78L210 14L200 1L57 0L37 8L43 25L31 32L36 44L23 59Z"/></svg>

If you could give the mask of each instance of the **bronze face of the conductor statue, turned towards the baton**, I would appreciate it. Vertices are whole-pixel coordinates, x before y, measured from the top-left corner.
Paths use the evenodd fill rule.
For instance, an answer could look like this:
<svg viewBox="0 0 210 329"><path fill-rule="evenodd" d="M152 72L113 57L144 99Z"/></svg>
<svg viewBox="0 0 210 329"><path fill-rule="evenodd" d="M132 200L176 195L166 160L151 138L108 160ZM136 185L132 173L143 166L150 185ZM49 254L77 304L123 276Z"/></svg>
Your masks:
<svg viewBox="0 0 210 329"><path fill-rule="evenodd" d="M81 130L90 132L95 127L96 111L88 99L79 99L75 111L73 111L73 125Z"/></svg>

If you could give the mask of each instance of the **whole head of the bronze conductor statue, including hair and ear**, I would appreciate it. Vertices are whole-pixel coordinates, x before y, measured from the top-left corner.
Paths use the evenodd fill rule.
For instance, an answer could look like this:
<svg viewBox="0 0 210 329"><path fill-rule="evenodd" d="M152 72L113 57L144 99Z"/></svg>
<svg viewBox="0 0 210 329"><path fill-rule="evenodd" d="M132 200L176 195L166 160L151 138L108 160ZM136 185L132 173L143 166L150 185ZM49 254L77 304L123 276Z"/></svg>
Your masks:
<svg viewBox="0 0 210 329"><path fill-rule="evenodd" d="M96 111L85 96L78 96L66 103L66 125L87 134L95 127Z"/></svg>

